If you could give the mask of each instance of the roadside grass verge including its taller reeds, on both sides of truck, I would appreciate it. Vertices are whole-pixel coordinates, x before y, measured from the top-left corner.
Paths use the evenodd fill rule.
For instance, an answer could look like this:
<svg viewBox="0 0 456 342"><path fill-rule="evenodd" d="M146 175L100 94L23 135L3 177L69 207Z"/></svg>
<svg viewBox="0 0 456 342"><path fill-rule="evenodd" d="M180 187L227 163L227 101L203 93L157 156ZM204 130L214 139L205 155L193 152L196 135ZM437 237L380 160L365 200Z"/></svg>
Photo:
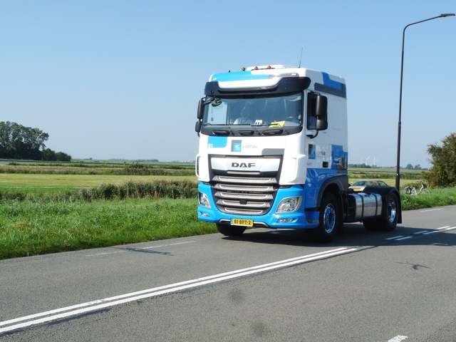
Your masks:
<svg viewBox="0 0 456 342"><path fill-rule="evenodd" d="M401 194L403 210L456 204L456 187ZM159 180L43 193L0 191L0 259L217 232L196 215L197 182ZM406 224L406 222L405 222Z"/></svg>

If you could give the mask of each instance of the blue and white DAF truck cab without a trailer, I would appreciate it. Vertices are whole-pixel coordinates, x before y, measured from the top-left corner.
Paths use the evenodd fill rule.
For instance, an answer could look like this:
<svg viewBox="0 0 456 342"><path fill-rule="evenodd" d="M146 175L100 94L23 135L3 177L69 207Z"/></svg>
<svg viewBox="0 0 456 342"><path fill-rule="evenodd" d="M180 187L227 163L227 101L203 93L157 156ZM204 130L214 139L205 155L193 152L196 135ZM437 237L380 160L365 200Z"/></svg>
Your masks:
<svg viewBox="0 0 456 342"><path fill-rule="evenodd" d="M321 71L255 66L210 76L199 100L198 218L227 236L306 229L330 242L343 222L393 231L395 187L348 184L346 83Z"/></svg>

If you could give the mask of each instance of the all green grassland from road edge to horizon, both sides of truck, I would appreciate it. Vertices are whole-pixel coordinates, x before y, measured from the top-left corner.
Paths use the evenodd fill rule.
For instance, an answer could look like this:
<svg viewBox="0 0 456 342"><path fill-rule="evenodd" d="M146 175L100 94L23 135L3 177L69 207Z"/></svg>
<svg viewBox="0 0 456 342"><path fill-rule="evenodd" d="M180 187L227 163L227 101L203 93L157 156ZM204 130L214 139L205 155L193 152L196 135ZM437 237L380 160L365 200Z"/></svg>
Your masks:
<svg viewBox="0 0 456 342"><path fill-rule="evenodd" d="M106 174L112 170L132 168L0 165L0 259L217 232L214 224L197 219L191 168L154 165L158 175ZM133 173L144 171L150 169L133 167ZM420 175L404 172L401 187ZM395 184L394 170L355 169L349 177ZM403 209L456 204L456 190L402 195L402 204Z"/></svg>

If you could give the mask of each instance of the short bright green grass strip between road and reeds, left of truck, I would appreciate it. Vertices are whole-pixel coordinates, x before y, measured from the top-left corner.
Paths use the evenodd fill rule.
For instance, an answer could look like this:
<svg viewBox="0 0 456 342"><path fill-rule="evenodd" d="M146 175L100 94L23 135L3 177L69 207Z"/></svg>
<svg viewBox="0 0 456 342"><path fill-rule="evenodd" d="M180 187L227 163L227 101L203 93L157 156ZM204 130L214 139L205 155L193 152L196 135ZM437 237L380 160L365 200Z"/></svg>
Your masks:
<svg viewBox="0 0 456 342"><path fill-rule="evenodd" d="M217 232L199 222L197 199L0 205L0 259Z"/></svg>

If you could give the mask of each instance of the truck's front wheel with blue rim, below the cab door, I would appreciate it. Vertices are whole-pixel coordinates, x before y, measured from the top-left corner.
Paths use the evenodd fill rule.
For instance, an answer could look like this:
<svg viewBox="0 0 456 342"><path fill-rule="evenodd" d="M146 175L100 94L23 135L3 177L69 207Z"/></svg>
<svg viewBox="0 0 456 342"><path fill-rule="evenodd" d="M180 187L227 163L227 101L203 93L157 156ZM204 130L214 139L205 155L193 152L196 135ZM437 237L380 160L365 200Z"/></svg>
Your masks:
<svg viewBox="0 0 456 342"><path fill-rule="evenodd" d="M306 230L307 236L312 241L322 243L333 241L340 219L338 209L336 197L331 192L323 196L320 205L320 224L316 229Z"/></svg>

